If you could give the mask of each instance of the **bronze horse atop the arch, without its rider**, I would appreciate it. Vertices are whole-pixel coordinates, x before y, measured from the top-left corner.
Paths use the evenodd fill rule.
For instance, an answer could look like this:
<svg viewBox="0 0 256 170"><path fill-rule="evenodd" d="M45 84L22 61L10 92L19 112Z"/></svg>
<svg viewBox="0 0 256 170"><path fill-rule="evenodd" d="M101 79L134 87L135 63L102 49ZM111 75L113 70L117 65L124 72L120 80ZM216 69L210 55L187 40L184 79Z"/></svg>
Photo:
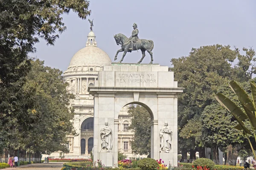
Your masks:
<svg viewBox="0 0 256 170"><path fill-rule="evenodd" d="M131 50L129 50L129 48L131 47L131 43L129 43L129 38L127 38L124 34L116 34L116 35L114 35L114 38L116 40L116 44L121 45L121 49L117 50L117 52L116 52L115 61L117 59L117 54L119 52L124 51L122 59L119 61L119 63L121 63L122 60L124 59L126 53L131 52ZM154 42L152 40L140 39L140 40L137 40L137 42L134 42L133 44L134 44L133 47L131 47L132 51L140 49L142 52L142 58L140 59L140 61L138 63L142 62L142 60L145 57L145 51L148 51L148 53L151 56L151 62L149 64L152 64L152 62L153 62L152 50L154 48Z"/></svg>

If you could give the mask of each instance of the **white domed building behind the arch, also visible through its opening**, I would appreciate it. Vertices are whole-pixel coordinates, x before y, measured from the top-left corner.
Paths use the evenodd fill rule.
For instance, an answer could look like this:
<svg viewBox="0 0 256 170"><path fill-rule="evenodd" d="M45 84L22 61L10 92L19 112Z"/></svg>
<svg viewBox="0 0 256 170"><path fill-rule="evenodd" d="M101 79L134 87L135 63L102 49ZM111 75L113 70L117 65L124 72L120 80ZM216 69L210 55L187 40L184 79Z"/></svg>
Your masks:
<svg viewBox="0 0 256 170"><path fill-rule="evenodd" d="M69 135L67 147L70 152L62 155L60 152L52 153L51 158L89 158L93 150L93 96L89 94L88 87L94 86L98 72L104 65L111 65L112 61L105 51L97 47L96 36L93 31L87 36L86 47L80 49L70 60L70 64L63 76L69 83L67 90L75 95L70 101L70 107L75 111L73 126L78 136ZM133 133L128 130L131 117L128 107L124 107L119 114L118 148L128 157L136 157L131 152L130 141Z"/></svg>

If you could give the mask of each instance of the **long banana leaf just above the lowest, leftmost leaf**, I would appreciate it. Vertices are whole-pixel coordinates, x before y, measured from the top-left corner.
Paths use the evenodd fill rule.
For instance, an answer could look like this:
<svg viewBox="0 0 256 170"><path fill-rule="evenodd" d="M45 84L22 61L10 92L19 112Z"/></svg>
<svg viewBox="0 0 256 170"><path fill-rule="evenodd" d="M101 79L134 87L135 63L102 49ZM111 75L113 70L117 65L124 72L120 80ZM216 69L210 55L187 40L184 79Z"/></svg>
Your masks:
<svg viewBox="0 0 256 170"><path fill-rule="evenodd" d="M253 101L248 94L237 84L234 80L229 82L230 88L236 93L242 105L244 105L250 111L256 111Z"/></svg>

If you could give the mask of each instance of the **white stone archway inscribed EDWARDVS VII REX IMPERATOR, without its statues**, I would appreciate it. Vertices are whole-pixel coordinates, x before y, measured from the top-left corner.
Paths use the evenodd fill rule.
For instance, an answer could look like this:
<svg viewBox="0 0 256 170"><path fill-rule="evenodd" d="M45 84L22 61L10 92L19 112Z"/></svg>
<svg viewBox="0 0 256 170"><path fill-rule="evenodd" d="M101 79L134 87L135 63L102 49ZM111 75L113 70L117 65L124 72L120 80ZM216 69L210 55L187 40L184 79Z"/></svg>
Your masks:
<svg viewBox="0 0 256 170"><path fill-rule="evenodd" d="M94 96L93 160L101 159L106 166L117 164L119 112L125 105L139 104L151 116L151 158L177 166L177 95L182 91L167 66L117 63L104 66L95 86L89 87ZM112 129L111 153L101 152L100 129L105 122ZM165 122L172 129L169 153L160 151L160 129Z"/></svg>

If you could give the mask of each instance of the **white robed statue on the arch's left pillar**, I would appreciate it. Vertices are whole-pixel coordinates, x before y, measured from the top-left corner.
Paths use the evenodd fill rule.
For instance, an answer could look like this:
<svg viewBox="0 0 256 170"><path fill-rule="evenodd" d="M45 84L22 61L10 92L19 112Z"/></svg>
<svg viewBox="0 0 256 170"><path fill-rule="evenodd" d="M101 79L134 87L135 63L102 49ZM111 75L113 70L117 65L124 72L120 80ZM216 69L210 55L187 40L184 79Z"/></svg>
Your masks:
<svg viewBox="0 0 256 170"><path fill-rule="evenodd" d="M102 150L106 152L112 151L112 130L108 126L108 122L105 122L105 125L100 130L100 137L102 140Z"/></svg>

